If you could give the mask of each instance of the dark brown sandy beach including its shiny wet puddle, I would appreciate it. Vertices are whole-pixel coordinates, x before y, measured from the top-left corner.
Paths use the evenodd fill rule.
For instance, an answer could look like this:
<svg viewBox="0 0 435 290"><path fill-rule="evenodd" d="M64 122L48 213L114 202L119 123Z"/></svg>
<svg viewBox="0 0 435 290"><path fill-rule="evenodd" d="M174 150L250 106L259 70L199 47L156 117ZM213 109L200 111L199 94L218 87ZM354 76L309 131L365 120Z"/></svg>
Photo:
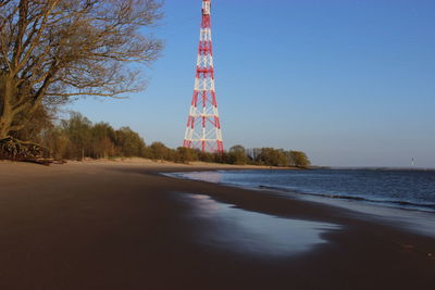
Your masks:
<svg viewBox="0 0 435 290"><path fill-rule="evenodd" d="M0 289L434 289L432 237L157 174L210 168L0 163Z"/></svg>

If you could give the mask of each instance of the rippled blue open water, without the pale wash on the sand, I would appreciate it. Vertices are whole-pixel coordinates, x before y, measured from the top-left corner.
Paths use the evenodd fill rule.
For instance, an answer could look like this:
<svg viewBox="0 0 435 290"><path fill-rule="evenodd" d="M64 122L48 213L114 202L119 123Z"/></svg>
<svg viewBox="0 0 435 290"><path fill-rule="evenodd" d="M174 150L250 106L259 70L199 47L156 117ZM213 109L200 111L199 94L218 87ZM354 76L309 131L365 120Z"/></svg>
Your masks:
<svg viewBox="0 0 435 290"><path fill-rule="evenodd" d="M435 171L217 171L175 177L435 213Z"/></svg>

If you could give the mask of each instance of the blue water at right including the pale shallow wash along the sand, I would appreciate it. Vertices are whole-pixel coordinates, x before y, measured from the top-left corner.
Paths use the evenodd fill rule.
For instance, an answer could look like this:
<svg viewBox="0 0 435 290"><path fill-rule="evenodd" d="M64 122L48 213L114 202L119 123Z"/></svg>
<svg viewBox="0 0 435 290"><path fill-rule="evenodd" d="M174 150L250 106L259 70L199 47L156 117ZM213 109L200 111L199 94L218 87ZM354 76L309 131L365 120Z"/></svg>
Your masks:
<svg viewBox="0 0 435 290"><path fill-rule="evenodd" d="M167 175L341 206L359 217L435 238L434 171L268 169Z"/></svg>

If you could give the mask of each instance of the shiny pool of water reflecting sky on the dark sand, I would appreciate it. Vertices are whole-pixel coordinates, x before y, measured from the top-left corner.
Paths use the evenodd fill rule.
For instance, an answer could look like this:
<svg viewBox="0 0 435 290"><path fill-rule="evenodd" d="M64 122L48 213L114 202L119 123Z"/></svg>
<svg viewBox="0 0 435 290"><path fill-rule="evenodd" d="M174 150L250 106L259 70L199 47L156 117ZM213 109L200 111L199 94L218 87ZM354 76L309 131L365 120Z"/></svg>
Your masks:
<svg viewBox="0 0 435 290"><path fill-rule="evenodd" d="M236 209L204 194L183 194L194 205L189 218L210 225L198 236L202 244L261 255L291 255L326 242L322 234L337 225L282 218Z"/></svg>

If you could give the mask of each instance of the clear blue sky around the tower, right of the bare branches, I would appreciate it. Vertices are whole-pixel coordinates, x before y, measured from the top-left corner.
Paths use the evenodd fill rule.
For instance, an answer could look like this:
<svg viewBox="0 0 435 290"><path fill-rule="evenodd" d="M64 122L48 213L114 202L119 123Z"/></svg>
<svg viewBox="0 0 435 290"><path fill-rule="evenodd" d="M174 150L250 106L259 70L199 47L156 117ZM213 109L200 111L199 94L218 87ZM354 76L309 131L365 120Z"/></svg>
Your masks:
<svg viewBox="0 0 435 290"><path fill-rule="evenodd" d="M78 101L91 121L182 144L200 0L166 0L146 91ZM226 148L302 150L314 164L435 167L435 1L213 0Z"/></svg>

